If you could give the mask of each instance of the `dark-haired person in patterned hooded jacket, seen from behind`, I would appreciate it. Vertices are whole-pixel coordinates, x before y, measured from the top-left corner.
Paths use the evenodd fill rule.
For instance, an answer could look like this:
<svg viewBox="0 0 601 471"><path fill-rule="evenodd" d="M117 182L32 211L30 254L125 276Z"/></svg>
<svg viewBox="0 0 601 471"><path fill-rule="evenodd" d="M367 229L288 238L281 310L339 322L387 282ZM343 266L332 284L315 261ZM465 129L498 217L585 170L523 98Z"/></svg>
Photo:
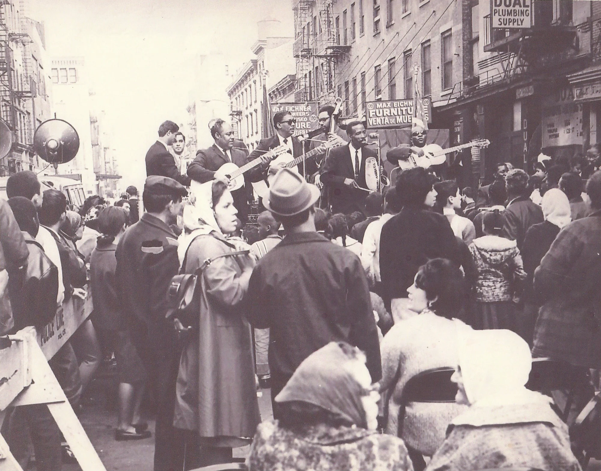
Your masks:
<svg viewBox="0 0 601 471"><path fill-rule="evenodd" d="M474 239L469 251L478 269L475 327L516 330L513 297L526 278L515 240L502 237L503 216L498 210L483 217L483 237Z"/></svg>

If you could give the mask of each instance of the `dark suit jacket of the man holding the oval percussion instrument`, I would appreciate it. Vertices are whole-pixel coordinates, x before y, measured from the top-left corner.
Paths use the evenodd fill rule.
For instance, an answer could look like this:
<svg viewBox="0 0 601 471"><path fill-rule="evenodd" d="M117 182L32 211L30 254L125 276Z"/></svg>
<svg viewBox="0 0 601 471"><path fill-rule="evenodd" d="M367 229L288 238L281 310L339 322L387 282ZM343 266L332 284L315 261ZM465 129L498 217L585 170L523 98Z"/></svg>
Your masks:
<svg viewBox="0 0 601 471"><path fill-rule="evenodd" d="M367 188L365 183L365 159L367 157L377 157L377 154L368 147L361 150L361 165L356 182L362 188ZM350 156L350 147L345 145L332 149L325 163L322 183L329 188L329 202L332 204L334 213L349 214L364 209L365 197L369 193L349 188L344 184L345 178L355 179L354 159L355 156L352 158Z"/></svg>

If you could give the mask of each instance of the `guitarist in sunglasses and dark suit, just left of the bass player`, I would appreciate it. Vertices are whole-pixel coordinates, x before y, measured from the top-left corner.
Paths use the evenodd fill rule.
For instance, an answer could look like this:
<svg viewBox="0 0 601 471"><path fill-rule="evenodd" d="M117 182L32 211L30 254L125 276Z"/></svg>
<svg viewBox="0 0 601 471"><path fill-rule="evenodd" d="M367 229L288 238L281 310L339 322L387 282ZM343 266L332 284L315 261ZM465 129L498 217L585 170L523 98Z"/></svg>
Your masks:
<svg viewBox="0 0 601 471"><path fill-rule="evenodd" d="M263 158L261 165L249 171L251 181L266 180L270 162L269 158L264 157L267 151L282 145L288 148L288 153L294 159L302 154L301 141L292 136L294 129L296 129L296 118L293 118L290 112L278 111L273 115L273 127L275 128L275 135L270 138L261 139L257 148L248 156L248 162ZM317 163L314 159L305 162L305 166L303 166L302 162L297 165L297 169L301 175L303 175L303 167L305 167L305 175L313 175L317 171ZM277 169L273 171L277 171Z"/></svg>

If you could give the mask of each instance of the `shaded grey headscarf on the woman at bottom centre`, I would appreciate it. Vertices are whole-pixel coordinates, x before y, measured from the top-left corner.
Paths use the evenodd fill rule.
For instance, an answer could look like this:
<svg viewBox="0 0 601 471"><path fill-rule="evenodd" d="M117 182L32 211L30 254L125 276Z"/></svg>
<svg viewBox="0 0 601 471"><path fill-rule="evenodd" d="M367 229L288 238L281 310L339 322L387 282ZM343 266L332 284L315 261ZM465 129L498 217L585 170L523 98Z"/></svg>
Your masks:
<svg viewBox="0 0 601 471"><path fill-rule="evenodd" d="M351 424L367 428L361 384L344 365L349 356L338 342L310 354L275 398L276 403L302 401L328 410Z"/></svg>

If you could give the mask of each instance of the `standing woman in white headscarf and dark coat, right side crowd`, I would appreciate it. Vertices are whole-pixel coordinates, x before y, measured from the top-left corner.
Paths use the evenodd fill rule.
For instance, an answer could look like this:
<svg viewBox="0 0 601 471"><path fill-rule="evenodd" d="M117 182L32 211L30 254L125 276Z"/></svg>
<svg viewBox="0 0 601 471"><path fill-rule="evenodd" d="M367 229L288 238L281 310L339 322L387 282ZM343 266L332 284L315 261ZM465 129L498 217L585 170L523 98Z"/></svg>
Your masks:
<svg viewBox="0 0 601 471"><path fill-rule="evenodd" d="M517 333L530 346L534 335L534 323L540 308L532 288L534 270L540 265L540 261L549 251L560 230L572 220L570 201L564 192L557 188L545 193L542 208L545 222L535 224L528 229L522 246L522 261L527 276L523 285L523 311L517 315Z"/></svg>

